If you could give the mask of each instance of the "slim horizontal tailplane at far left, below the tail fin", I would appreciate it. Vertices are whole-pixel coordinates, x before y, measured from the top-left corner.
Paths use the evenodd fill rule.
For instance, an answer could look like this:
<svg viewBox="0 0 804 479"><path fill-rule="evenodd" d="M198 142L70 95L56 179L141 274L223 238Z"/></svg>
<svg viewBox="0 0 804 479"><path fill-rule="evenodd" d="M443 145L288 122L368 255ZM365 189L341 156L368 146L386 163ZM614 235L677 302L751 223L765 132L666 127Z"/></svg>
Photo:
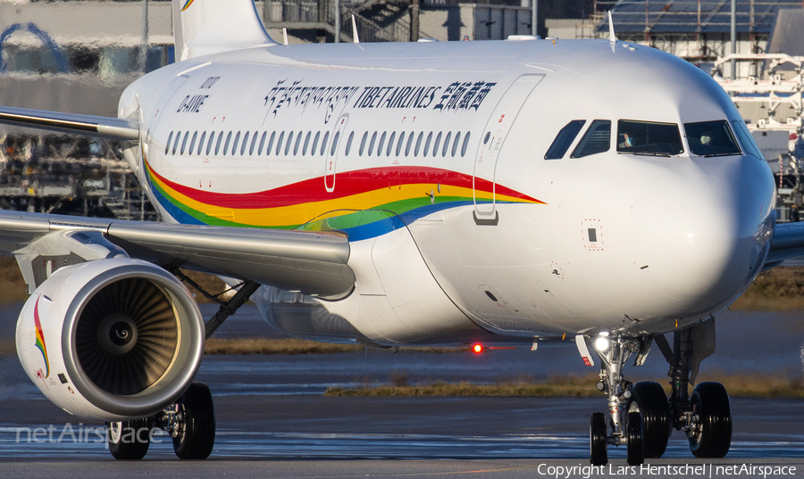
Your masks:
<svg viewBox="0 0 804 479"><path fill-rule="evenodd" d="M139 127L135 120L79 115L60 111L29 110L27 108L0 106L0 123L62 133L103 136L118 140L139 139Z"/></svg>

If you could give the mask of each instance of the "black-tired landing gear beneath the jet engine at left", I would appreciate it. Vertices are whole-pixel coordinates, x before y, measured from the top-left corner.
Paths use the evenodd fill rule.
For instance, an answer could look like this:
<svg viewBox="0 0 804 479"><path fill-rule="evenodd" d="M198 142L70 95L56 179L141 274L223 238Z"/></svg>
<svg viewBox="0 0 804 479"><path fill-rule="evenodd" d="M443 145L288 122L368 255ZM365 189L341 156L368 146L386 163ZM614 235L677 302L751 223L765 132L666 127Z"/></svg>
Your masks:
<svg viewBox="0 0 804 479"><path fill-rule="evenodd" d="M153 434L163 430L182 459L205 459L215 443L215 410L204 383L193 383L179 401L153 417L107 424L109 450L117 459L144 458Z"/></svg>

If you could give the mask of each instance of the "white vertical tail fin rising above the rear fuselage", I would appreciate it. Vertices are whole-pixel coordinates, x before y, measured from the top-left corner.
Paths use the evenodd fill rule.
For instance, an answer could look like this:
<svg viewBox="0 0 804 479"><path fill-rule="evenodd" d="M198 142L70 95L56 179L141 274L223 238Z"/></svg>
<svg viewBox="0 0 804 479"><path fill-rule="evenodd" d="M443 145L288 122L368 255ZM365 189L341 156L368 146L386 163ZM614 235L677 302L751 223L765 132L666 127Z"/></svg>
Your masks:
<svg viewBox="0 0 804 479"><path fill-rule="evenodd" d="M252 46L277 45L254 0L172 0L176 61Z"/></svg>

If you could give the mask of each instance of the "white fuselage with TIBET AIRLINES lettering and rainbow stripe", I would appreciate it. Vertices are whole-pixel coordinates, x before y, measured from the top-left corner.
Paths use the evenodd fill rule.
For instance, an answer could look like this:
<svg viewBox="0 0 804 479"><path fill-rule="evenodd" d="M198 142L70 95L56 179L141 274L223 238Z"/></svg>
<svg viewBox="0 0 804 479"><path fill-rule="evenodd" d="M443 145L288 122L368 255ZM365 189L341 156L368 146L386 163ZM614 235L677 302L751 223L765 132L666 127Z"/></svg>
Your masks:
<svg viewBox="0 0 804 479"><path fill-rule="evenodd" d="M773 231L750 140L711 157L684 135L738 128L729 97L644 46L273 45L147 75L119 116L141 120L126 155L165 220L348 233L347 298L257 294L274 326L320 340L664 332L743 293ZM573 158L593 120L607 151ZM677 125L683 153L617 153L618 120Z"/></svg>

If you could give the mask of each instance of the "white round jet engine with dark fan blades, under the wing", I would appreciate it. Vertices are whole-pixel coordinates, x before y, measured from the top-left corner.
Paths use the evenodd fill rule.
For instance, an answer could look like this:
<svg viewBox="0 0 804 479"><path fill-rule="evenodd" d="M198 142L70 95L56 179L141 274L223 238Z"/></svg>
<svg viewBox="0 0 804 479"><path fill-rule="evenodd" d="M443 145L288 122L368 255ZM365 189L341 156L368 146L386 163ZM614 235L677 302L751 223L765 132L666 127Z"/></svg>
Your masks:
<svg viewBox="0 0 804 479"><path fill-rule="evenodd" d="M180 281L130 258L60 268L17 321L25 372L50 401L80 417L147 417L196 376L205 328Z"/></svg>

